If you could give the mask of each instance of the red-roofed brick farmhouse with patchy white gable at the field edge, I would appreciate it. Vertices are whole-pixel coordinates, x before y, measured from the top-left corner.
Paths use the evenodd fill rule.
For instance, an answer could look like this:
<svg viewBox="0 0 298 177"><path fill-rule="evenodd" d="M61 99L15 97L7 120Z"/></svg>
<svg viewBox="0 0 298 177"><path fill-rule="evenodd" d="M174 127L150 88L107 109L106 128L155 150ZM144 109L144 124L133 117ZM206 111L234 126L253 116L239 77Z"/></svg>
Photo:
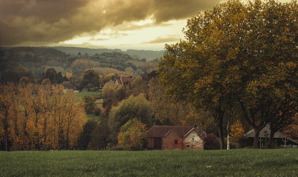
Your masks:
<svg viewBox="0 0 298 177"><path fill-rule="evenodd" d="M154 125L146 133L148 149L203 150L206 132L198 125L163 126Z"/></svg>

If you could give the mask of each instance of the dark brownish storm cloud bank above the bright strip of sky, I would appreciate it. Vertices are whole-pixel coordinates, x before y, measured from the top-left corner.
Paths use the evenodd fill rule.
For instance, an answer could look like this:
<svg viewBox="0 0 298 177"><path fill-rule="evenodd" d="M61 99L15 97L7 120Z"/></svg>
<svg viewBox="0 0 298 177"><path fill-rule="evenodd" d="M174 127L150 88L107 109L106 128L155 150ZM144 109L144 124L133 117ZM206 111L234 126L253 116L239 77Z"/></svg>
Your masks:
<svg viewBox="0 0 298 177"><path fill-rule="evenodd" d="M156 24L191 18L219 0L3 0L0 46L39 46L148 16ZM181 27L182 28L182 27Z"/></svg>

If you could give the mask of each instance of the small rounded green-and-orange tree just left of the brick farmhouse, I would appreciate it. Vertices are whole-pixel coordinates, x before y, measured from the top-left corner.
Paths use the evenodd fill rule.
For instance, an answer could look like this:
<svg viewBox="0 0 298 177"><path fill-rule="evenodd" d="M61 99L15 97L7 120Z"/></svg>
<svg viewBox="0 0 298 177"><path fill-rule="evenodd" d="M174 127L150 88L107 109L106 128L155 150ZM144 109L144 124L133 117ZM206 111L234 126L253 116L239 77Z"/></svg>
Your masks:
<svg viewBox="0 0 298 177"><path fill-rule="evenodd" d="M124 150L139 150L145 148L146 125L138 119L130 119L126 122L118 133L118 146Z"/></svg>

